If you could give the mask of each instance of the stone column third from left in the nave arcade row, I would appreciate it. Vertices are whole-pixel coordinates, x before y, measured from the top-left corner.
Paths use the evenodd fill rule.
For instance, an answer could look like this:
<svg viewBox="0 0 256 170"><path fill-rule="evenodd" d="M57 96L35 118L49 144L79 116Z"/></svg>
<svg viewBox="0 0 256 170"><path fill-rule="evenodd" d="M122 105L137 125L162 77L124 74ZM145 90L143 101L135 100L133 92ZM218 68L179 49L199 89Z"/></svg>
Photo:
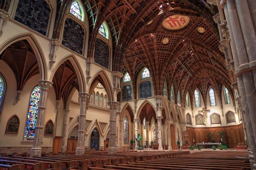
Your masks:
<svg viewBox="0 0 256 170"><path fill-rule="evenodd" d="M109 109L110 109L110 119L109 119L109 148L108 154L117 153L117 146L116 146L116 116L117 110L119 106L119 102L108 102Z"/></svg>

